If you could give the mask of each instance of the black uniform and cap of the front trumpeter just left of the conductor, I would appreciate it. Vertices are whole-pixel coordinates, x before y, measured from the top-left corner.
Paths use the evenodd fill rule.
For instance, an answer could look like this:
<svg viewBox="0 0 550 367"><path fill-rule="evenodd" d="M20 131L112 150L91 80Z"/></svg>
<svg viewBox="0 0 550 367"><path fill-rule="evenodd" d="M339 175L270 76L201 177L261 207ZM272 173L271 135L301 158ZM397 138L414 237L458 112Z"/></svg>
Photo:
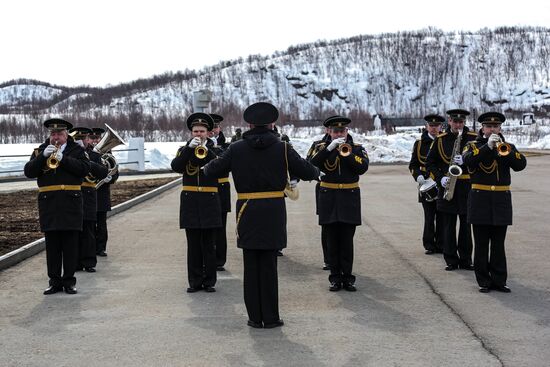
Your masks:
<svg viewBox="0 0 550 367"><path fill-rule="evenodd" d="M214 121L206 113L193 113L187 126L205 126L212 130ZM189 144L189 142L188 142ZM187 236L188 292L204 289L213 292L216 284L215 231L222 226L218 180L204 175L201 167L216 157L214 143L206 139L206 157L198 158L195 148L181 147L172 160L172 169L183 174L180 195L180 228Z"/></svg>

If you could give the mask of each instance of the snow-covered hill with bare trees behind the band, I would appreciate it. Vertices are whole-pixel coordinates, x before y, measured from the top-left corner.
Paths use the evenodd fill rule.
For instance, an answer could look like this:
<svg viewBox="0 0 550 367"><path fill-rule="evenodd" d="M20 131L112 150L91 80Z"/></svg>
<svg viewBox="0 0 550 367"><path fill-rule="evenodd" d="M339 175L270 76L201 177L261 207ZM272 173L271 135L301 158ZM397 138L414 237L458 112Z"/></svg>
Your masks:
<svg viewBox="0 0 550 367"><path fill-rule="evenodd" d="M74 121L123 116L155 127L188 115L199 89L212 91L212 110L230 123L240 122L243 108L260 100L280 108L281 123L334 113L363 121L375 114L422 117L457 106L477 114L530 111L539 117L550 112L550 29L357 36L110 88L45 85L0 84L0 122L38 122L52 114Z"/></svg>

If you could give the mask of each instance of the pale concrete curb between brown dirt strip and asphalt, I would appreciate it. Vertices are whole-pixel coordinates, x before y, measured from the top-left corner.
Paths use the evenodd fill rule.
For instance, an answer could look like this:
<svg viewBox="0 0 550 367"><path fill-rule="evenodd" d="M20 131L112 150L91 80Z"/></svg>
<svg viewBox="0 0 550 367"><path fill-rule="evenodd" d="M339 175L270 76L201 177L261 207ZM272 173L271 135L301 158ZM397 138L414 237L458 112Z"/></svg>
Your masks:
<svg viewBox="0 0 550 367"><path fill-rule="evenodd" d="M164 191L178 185L181 185L181 178L177 178L174 181L168 182L167 184L157 187L156 189L146 192L145 194L118 204L114 206L110 212L107 212L107 218L122 213L123 211L128 210L135 205L143 203L146 200L154 198L155 196L162 194ZM8 252L7 254L0 256L0 271L14 266L17 263L42 252L45 248L46 241L44 238L41 238L23 247L20 247L17 250L13 250L12 252Z"/></svg>

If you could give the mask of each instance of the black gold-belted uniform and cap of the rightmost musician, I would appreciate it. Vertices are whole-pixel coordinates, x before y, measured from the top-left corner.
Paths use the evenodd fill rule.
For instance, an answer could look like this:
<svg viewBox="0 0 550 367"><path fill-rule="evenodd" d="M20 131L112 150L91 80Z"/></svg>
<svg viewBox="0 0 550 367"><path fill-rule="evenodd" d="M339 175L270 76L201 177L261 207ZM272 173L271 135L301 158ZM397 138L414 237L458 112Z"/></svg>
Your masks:
<svg viewBox="0 0 550 367"><path fill-rule="evenodd" d="M505 117L498 112L487 112L479 116L478 121L500 124ZM504 142L504 137L500 137ZM521 171L527 161L513 144L509 144L509 154L501 156L487 141L480 133L464 152L464 163L472 182L468 222L473 225L475 238L475 274L481 292L488 292L490 288L509 292L504 241L506 229L512 224L510 169Z"/></svg>

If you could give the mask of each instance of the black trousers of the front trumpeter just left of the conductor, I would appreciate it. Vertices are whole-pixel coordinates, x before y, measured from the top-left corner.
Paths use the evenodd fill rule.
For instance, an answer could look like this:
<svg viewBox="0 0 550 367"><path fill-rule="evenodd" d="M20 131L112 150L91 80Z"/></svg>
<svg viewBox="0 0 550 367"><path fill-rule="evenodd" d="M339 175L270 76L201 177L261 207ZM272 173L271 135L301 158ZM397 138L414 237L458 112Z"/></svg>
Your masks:
<svg viewBox="0 0 550 367"><path fill-rule="evenodd" d="M186 228L187 277L191 288L216 285L215 228Z"/></svg>

